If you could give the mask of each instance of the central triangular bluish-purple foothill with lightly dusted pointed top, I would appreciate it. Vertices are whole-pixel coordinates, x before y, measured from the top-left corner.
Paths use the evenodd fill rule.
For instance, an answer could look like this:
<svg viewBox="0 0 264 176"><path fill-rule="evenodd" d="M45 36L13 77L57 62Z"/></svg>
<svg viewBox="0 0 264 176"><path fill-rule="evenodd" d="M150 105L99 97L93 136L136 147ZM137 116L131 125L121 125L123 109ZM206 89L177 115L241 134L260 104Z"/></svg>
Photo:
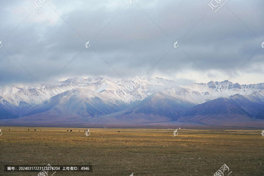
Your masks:
<svg viewBox="0 0 264 176"><path fill-rule="evenodd" d="M193 106L194 103L180 96L175 98L157 92L123 111L104 116L104 119L126 123L175 121Z"/></svg>

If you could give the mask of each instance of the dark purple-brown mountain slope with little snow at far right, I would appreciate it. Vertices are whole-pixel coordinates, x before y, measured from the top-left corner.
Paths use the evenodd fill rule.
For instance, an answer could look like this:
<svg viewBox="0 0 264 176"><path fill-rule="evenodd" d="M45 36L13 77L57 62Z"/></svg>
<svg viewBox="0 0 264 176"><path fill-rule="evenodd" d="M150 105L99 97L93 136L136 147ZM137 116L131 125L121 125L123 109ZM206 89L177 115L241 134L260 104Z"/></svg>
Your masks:
<svg viewBox="0 0 264 176"><path fill-rule="evenodd" d="M186 116L177 122L199 123L216 126L246 126L253 122L250 106L263 106L263 103L248 101L248 97L242 95L231 96L231 98L217 98L193 107ZM252 97L251 97L252 98ZM243 106L247 104L248 106ZM259 108L256 108L259 109ZM259 110L258 110L259 111ZM255 120L256 121L256 120ZM256 126L256 124L255 124Z"/></svg>

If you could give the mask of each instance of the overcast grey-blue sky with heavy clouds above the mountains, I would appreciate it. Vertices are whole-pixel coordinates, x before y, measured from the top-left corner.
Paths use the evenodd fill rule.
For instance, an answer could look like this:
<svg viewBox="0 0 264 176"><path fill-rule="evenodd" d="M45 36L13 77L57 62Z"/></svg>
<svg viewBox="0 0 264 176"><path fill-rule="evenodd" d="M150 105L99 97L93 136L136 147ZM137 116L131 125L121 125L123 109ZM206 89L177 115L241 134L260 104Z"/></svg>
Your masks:
<svg viewBox="0 0 264 176"><path fill-rule="evenodd" d="M42 11L40 1L0 1L1 87L75 76L264 82L263 0L216 12L224 1L52 0Z"/></svg>

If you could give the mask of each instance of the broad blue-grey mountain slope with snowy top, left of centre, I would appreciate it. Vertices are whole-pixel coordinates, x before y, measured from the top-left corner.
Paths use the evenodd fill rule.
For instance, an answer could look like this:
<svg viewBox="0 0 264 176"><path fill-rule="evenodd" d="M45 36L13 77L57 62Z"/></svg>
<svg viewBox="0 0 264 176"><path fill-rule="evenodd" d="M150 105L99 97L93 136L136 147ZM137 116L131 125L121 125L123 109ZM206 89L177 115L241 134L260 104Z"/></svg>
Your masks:
<svg viewBox="0 0 264 176"><path fill-rule="evenodd" d="M100 84L100 85L99 85ZM96 91L91 92L94 87ZM101 90L102 89L102 90ZM100 91L100 92L99 92ZM82 117L101 116L126 109L130 105L122 101L111 83L102 81L96 85L72 89L58 94L28 109L25 116L41 113L76 114Z"/></svg>

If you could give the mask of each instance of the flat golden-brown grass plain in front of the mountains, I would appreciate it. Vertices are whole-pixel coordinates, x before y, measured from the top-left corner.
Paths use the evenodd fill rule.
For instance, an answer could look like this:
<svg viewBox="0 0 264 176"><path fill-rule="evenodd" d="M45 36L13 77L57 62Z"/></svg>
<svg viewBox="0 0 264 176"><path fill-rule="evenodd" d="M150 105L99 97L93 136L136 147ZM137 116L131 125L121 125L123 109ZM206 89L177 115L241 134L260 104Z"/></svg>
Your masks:
<svg viewBox="0 0 264 176"><path fill-rule="evenodd" d="M84 130L2 128L0 175L38 175L4 172L4 165L92 163L93 172L56 172L54 176L212 176L224 164L232 171L230 176L264 176L261 130L178 129L178 136L168 129L91 128L90 136Z"/></svg>

